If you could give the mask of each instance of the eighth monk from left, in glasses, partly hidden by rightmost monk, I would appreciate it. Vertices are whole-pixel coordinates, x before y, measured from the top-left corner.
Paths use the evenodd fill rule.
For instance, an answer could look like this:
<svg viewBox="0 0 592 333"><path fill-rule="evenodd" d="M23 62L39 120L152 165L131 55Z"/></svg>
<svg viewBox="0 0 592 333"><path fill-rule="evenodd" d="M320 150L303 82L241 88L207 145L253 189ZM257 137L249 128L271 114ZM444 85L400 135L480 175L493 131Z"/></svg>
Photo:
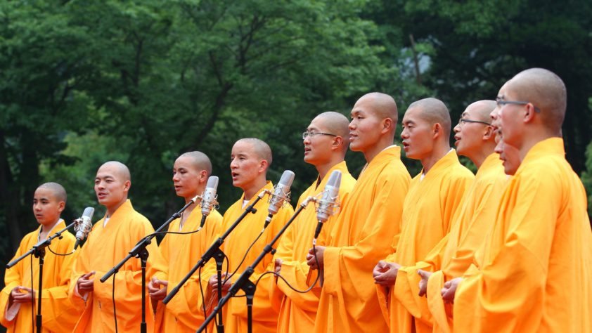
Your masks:
<svg viewBox="0 0 592 333"><path fill-rule="evenodd" d="M484 235L493 226L494 214L499 198L506 184L503 166L499 155L494 152L496 136L494 126L491 125L489 115L496 107L494 100L480 100L469 105L461 115L461 119L454 127L455 145L458 155L468 157L477 166L475 181L467 190L459 209L451 221L451 231L431 251L426 258L415 266L399 268L397 287L415 289L416 280L422 278L418 293L410 292L414 303L406 303L406 307L417 319L430 318L433 315L434 330L442 325L439 320L446 318L440 289L430 290L427 295L427 306L423 296L426 292L427 279L431 272L437 271L432 281L446 278L456 278L472 263L475 249L482 244ZM487 218L490 216L490 218ZM418 268L421 268L418 270ZM414 270L418 270L419 276ZM405 276L406 280L402 277ZM443 283L443 282L442 282ZM400 285L399 285L400 284ZM396 287L396 289L397 289ZM430 301L432 296L436 305ZM439 305L439 308L437 307ZM432 308L441 310L436 311ZM446 320L444 320L446 322Z"/></svg>

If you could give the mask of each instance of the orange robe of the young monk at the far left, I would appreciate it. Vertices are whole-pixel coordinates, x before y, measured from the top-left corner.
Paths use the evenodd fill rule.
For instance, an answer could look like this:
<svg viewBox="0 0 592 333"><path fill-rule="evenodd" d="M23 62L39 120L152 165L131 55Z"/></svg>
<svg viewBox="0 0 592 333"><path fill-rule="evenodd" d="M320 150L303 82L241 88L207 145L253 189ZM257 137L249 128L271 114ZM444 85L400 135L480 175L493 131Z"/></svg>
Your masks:
<svg viewBox="0 0 592 333"><path fill-rule="evenodd" d="M60 220L47 235L48 238L65 227L64 221ZM29 251L38 243L37 239L40 231L41 227L22 237L20 246L12 260L25 254L25 252ZM49 249L57 254L72 252L74 243L76 242L75 237L68 231L65 231L62 236L63 238L61 240L59 238L53 239L51 245L49 245ZM70 256L56 256L49 249L45 249L43 265L43 291L41 292L42 331L71 332L74 325L76 325L80 313L82 313L82 311L79 311L79 308L76 308L70 302L67 296L72 263L74 263L79 252L75 252ZM32 281L31 268L33 270ZM14 287L23 286L34 290L37 290L39 287L39 258L33 256L33 261L31 262L31 259L27 257L19 261L12 268L7 269L4 275L4 284L6 287L2 289L0 294L0 309L2 311L0 322L8 329L6 332L35 332L36 326L34 325L34 320L32 321L32 316L37 315L37 300L33 313L31 303L22 303L16 317L10 320L6 318L6 311L8 310L8 301Z"/></svg>

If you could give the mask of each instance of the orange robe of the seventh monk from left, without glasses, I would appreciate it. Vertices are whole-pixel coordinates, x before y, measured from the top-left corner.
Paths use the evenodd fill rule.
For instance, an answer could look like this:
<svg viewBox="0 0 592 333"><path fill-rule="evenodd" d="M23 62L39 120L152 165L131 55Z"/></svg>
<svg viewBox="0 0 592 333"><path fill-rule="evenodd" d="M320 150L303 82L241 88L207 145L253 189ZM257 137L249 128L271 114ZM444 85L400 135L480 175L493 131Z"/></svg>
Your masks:
<svg viewBox="0 0 592 333"><path fill-rule="evenodd" d="M439 159L423 180L422 173L411 181L396 251L386 259L403 267L397 273L388 299L385 288L377 286L382 311L390 318L390 332L412 332L412 327L417 332L432 332L427 302L417 296L420 281L417 268L406 270L405 266L415 266L425 259L449 232L451 218L461 207L463 195L475 179L472 172L458 162L454 150Z"/></svg>

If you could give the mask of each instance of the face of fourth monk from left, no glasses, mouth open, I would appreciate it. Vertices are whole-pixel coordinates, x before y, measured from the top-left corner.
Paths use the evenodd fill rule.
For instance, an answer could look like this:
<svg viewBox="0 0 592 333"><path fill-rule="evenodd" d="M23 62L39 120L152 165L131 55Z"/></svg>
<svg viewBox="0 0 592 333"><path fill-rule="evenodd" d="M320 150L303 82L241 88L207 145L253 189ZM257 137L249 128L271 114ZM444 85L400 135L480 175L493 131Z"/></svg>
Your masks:
<svg viewBox="0 0 592 333"><path fill-rule="evenodd" d="M247 141L237 141L232 147L230 158L232 185L237 188L252 188L259 175L265 171L262 159Z"/></svg>

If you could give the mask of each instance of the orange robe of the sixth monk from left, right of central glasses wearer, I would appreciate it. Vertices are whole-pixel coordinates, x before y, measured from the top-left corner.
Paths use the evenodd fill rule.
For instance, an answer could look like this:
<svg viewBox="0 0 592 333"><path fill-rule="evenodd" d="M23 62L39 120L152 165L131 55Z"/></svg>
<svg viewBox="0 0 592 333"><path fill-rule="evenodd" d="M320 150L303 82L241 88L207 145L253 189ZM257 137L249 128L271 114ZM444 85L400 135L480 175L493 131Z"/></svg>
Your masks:
<svg viewBox="0 0 592 333"><path fill-rule="evenodd" d="M382 150L363 169L326 240L315 332L385 332L372 270L399 234L409 176L401 148Z"/></svg>

